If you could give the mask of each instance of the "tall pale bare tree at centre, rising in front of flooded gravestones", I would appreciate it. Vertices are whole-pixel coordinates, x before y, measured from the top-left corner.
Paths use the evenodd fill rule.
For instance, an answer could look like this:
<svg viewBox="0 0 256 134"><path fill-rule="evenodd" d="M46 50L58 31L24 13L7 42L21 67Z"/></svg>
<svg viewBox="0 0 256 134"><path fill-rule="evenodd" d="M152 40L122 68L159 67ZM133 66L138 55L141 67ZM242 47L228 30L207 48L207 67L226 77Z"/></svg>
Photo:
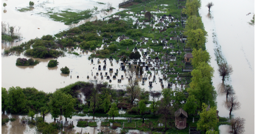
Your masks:
<svg viewBox="0 0 256 134"><path fill-rule="evenodd" d="M128 74L128 78L130 79L130 81L128 80L128 84L126 85L126 90L131 96L131 104L133 105L133 101L140 94L141 88L137 85L138 80L135 80L136 69L133 65L131 65L131 68L127 69L126 73Z"/></svg>

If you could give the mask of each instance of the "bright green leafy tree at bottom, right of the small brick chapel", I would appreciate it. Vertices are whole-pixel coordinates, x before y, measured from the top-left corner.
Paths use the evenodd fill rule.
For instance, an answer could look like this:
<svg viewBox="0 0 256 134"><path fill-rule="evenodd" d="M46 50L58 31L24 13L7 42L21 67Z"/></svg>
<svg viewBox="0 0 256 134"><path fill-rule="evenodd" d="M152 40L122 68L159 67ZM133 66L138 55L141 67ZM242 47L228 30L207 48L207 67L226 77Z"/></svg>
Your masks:
<svg viewBox="0 0 256 134"><path fill-rule="evenodd" d="M207 110L207 105L202 104L202 111L198 112L200 119L197 122L197 130L203 130L206 134L206 131L213 129L217 125L217 116L216 110L217 107L211 107Z"/></svg>

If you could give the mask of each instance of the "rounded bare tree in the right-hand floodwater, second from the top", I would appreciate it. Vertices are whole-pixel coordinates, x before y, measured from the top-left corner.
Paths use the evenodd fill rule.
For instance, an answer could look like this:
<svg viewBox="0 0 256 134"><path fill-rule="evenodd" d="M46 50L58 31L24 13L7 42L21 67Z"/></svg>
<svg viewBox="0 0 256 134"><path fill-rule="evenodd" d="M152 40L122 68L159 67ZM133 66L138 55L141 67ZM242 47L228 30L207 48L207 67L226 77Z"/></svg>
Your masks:
<svg viewBox="0 0 256 134"><path fill-rule="evenodd" d="M218 64L218 72L220 76L222 76L222 80L225 80L225 76L229 76L230 74L233 73L233 68L231 65L227 63L220 63Z"/></svg>

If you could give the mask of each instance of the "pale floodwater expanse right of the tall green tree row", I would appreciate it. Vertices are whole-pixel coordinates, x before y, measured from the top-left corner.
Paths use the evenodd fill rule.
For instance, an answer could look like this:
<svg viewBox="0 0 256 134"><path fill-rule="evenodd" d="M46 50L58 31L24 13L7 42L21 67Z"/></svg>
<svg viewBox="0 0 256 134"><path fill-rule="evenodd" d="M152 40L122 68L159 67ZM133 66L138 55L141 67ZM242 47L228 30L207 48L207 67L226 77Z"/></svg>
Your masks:
<svg viewBox="0 0 256 134"><path fill-rule="evenodd" d="M215 70L213 85L218 92L217 86L222 82L222 77L217 72L218 66L214 55L214 48L216 48L212 37L214 32L217 42L221 46L223 57L234 70L225 83L233 86L241 103L241 109L232 111L232 114L234 117L245 118L245 133L252 134L254 133L254 26L247 22L250 22L254 14L254 0L225 1L230 3L230 6L223 4L221 0L216 0L213 2L214 6L211 8L210 14L208 14L208 8L205 7L208 2L202 1L199 13L205 30L208 32L206 49L212 57L211 66ZM251 14L247 15L248 13ZM225 100L225 95L218 94L217 110L221 117L229 117L229 111L222 103ZM230 130L228 125L222 125L219 129L221 134L228 134L228 130Z"/></svg>

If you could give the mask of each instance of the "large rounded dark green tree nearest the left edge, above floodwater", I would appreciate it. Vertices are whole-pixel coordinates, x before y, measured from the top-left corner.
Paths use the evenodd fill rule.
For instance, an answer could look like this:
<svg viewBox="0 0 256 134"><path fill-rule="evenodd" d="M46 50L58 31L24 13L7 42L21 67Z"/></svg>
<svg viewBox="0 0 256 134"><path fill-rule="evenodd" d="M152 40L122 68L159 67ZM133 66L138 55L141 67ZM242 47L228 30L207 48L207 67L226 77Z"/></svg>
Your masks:
<svg viewBox="0 0 256 134"><path fill-rule="evenodd" d="M8 98L11 113L18 113L25 107L25 95L19 86L9 88Z"/></svg>

